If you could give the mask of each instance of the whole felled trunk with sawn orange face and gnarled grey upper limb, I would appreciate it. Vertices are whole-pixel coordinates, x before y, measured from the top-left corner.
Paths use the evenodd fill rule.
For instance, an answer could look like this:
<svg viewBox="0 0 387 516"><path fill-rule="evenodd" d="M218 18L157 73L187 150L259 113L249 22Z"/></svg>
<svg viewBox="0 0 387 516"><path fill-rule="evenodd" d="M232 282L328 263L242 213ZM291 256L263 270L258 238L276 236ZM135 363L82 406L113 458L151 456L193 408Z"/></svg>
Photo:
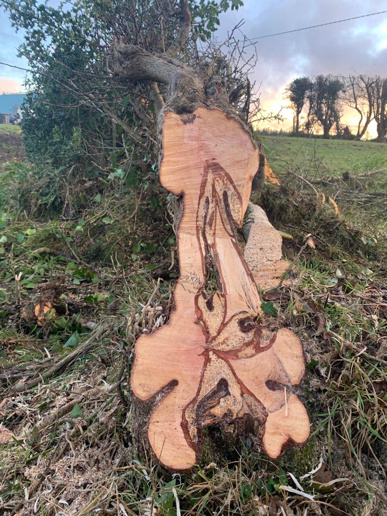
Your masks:
<svg viewBox="0 0 387 516"><path fill-rule="evenodd" d="M134 441L139 449L150 446L171 470L200 460L206 427L224 437L248 433L270 457L309 436L308 414L294 391L304 374L301 343L292 331L264 323L248 267L261 288L278 279L286 266L280 240L254 209L246 260L236 236L254 176L257 191L264 176L279 182L251 139L246 116L230 105L227 80L208 63L193 69L175 58L190 24L187 0L180 5L181 30L166 52L151 54L122 38L109 59L112 73L148 82L160 181L183 199L183 214L176 214L175 310L167 325L136 342L131 376ZM254 249L261 254L254 257Z"/></svg>

